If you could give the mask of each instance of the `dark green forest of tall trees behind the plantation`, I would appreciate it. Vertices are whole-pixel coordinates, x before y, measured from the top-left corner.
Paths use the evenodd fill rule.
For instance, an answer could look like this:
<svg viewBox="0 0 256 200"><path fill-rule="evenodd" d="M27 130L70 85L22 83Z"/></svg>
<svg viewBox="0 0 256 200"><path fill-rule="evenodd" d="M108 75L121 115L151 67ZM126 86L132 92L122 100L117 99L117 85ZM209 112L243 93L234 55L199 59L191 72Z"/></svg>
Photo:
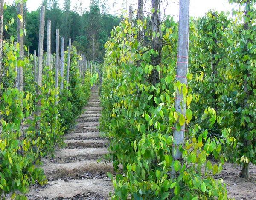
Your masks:
<svg viewBox="0 0 256 200"><path fill-rule="evenodd" d="M103 62L105 55L104 44L110 37L110 31L114 26L120 23L120 18L108 14L102 6L100 0L91 0L89 11L83 11L81 3L76 8L70 7L71 0L65 0L63 9L59 0L44 0L42 5L46 7L45 21L51 20L51 49L55 51L55 30L60 29L60 35L65 37L65 47L68 45L68 38L73 41L73 45L86 55L88 60ZM82 13L82 14L81 14ZM17 7L15 3L7 6L4 10L4 24L12 18L17 19ZM25 7L24 23L27 34L24 38L24 44L28 46L29 52L33 54L38 51L40 8L36 11L27 11ZM47 24L44 31L46 32ZM17 35L17 23L14 23L10 29L4 33L4 38L10 38L11 35ZM44 51L46 51L47 35L44 34ZM16 39L16 38L15 38Z"/></svg>

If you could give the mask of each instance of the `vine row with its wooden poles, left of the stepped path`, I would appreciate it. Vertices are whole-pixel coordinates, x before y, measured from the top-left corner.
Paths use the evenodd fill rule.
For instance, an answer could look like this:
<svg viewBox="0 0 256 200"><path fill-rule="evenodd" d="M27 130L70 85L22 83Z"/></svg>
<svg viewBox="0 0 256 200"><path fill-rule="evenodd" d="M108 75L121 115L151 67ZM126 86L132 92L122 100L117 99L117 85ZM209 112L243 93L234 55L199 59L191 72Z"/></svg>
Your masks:
<svg viewBox="0 0 256 200"><path fill-rule="evenodd" d="M56 54L50 53L50 37L47 37L47 53L43 53L44 7L41 8L38 57L25 55L22 0L17 1L18 41L14 41L13 36L3 40L3 27L7 30L15 21L11 19L3 25L4 7L1 0L0 195L13 193L12 198L23 199L25 197L15 194L16 191L26 193L32 183L47 183L43 170L38 167L41 158L63 144L61 136L81 114L97 74L96 65L88 62L87 67L86 57L78 54L71 40L68 50L64 51L64 37L59 57L58 29ZM50 28L48 22L48 36Z"/></svg>

